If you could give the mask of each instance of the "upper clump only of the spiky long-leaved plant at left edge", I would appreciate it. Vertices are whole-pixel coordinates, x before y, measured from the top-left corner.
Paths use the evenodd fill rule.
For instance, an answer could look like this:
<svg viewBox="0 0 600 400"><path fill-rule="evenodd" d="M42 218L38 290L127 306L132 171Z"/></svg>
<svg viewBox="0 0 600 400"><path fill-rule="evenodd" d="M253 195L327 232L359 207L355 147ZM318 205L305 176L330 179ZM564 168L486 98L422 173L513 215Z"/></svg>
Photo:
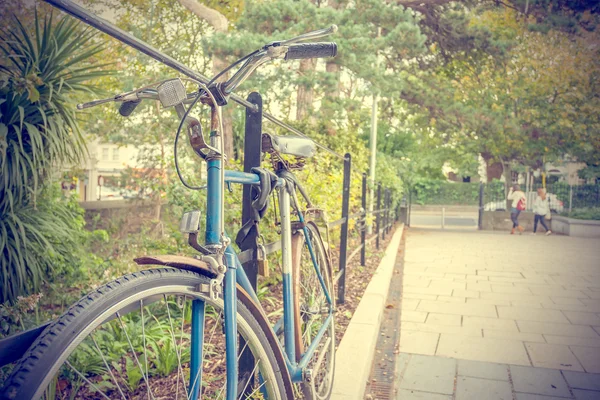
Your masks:
<svg viewBox="0 0 600 400"><path fill-rule="evenodd" d="M75 120L73 94L90 93L85 81L106 75L96 56L91 29L70 18L35 18L34 34L17 20L15 31L0 30L0 137L2 206L37 190L57 164L81 160L85 144Z"/></svg>

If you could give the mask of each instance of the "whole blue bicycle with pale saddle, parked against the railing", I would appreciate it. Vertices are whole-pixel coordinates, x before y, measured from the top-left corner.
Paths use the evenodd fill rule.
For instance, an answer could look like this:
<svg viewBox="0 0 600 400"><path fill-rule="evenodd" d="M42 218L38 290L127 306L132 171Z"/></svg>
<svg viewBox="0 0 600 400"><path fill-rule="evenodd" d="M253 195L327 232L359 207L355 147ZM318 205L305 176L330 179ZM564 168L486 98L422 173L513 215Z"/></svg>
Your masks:
<svg viewBox="0 0 600 400"><path fill-rule="evenodd" d="M335 43L299 42L336 29L269 43L226 68L223 72L244 62L226 82L215 83L223 72L207 85L195 82L196 92L187 93L176 78L78 106L120 102L123 116L147 99L175 108L180 118L175 146L185 125L191 147L207 166L205 241L199 242L201 212L185 213L180 230L199 255L137 258L140 265L159 268L125 275L84 296L27 350L7 380L3 398L330 397L335 366L333 271L319 228L307 217L315 211L292 172L314 155L316 145L306 138L263 134L263 150L274 172L226 171L219 108L269 60L335 56ZM198 102L211 111L208 141L200 122L190 116ZM287 161L283 154L296 160ZM232 183L255 190L257 217L238 236L256 229L270 193L279 198L283 317L275 326L242 268L240 258L253 253L238 257L224 229L224 189ZM297 191L307 202L305 209ZM256 251L264 259L261 247Z"/></svg>

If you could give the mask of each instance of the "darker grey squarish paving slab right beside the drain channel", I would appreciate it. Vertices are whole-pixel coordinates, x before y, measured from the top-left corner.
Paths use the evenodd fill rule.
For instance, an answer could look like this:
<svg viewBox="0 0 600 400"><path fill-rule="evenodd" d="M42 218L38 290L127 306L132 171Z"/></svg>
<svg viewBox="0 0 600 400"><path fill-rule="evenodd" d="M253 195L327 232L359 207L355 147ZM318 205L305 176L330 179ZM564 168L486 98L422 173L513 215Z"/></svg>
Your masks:
<svg viewBox="0 0 600 400"><path fill-rule="evenodd" d="M456 360L413 356L398 388L451 395L454 392L455 374Z"/></svg>

